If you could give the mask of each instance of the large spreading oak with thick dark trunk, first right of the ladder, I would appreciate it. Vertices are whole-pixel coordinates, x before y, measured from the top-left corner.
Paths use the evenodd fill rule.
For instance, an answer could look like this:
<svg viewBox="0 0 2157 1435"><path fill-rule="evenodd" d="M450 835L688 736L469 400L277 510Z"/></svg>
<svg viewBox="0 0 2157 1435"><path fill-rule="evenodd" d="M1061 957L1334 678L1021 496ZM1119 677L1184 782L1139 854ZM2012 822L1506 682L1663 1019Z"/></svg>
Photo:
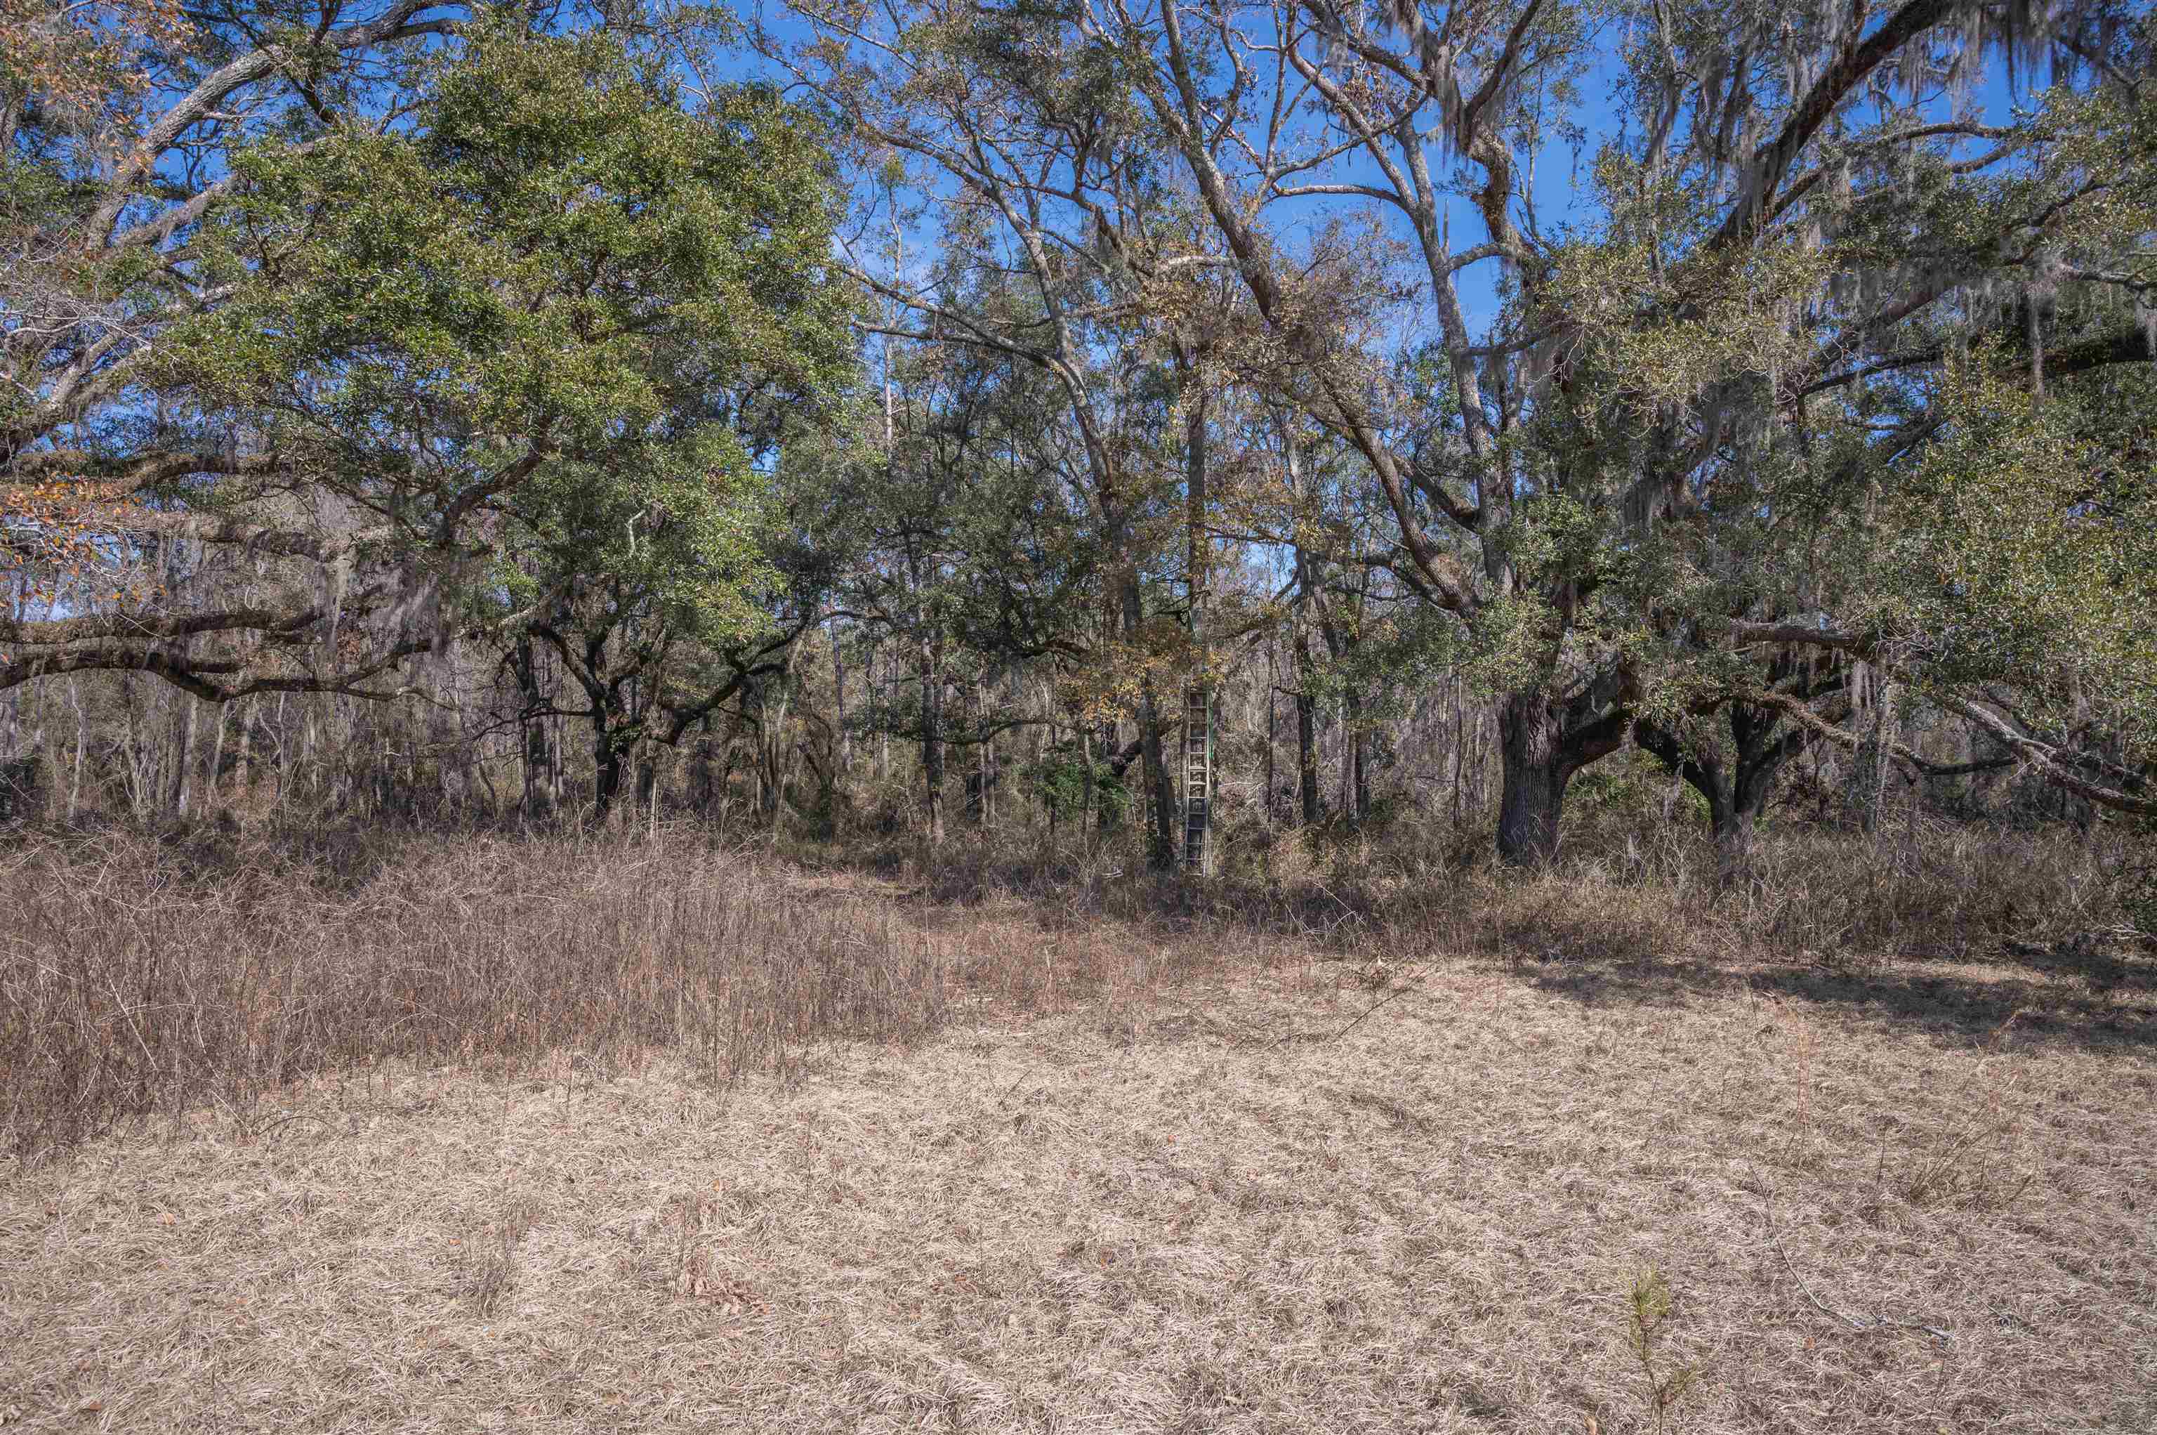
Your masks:
<svg viewBox="0 0 2157 1435"><path fill-rule="evenodd" d="M1810 572L1801 546L1747 537L1762 511L1790 511L1767 507L1773 475L1795 464L1831 511L1861 511L1872 475L1948 427L1918 412L1922 395L1900 425L1866 410L1911 404L1909 369L1984 328L1978 296L2146 281L2129 203L2151 173L2146 129L2088 110L2140 112L2146 39L2105 4L1072 15L1128 65L1189 164L1303 367L1307 410L1370 462L1396 518L1393 572L1478 652L1497 691L1510 861L1555 850L1570 777L1641 714L1747 695L1825 723L1760 680L1777 643L1855 641L1801 637L1823 626L1818 598L1782 583ZM1577 104L1598 24L1624 37L1622 123L1592 166L1590 222L1544 227L1529 175ZM2051 104L2058 123L1987 125L1963 104L1995 65L2038 60L2088 80ZM1443 412L1417 410L1309 302L1268 216L1311 203L1383 205L1413 237ZM1475 265L1499 296L1482 330L1460 298ZM2135 358L2120 334L2056 347L2030 373ZM1855 412L1829 421L1838 404ZM2012 740L2043 760L2030 734Z"/></svg>

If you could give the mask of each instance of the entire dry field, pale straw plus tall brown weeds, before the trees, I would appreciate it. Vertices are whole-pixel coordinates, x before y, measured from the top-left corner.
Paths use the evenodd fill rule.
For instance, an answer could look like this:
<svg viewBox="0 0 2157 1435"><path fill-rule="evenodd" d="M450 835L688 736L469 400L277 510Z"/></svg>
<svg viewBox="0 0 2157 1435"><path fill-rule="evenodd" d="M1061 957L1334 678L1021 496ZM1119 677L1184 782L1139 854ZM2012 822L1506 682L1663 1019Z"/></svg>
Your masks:
<svg viewBox="0 0 2157 1435"><path fill-rule="evenodd" d="M2140 949L9 863L9 1431L2157 1431Z"/></svg>

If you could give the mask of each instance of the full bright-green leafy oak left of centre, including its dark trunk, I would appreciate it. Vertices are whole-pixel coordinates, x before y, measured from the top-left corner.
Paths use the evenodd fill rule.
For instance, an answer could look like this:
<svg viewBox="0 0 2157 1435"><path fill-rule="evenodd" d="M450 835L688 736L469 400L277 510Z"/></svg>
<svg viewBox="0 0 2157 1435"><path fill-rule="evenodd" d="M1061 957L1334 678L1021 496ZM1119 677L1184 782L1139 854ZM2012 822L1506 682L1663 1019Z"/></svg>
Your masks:
<svg viewBox="0 0 2157 1435"><path fill-rule="evenodd" d="M850 296L826 274L837 209L820 127L755 86L705 88L690 112L664 58L608 37L481 39L429 136L395 160L440 175L455 207L360 205L330 250L360 259L339 276L352 296L410 268L453 285L341 322L360 345L410 334L421 354L481 360L451 373L397 350L347 360L343 380L382 378L352 386L336 436L358 445L352 473L380 475L395 462L373 451L380 436L425 416L397 445L427 455L425 488L384 496L416 516L408 544L451 557L462 544L481 563L466 587L485 630L554 650L578 688L567 712L591 727L602 818L638 749L679 742L815 621L805 574L768 561L789 516L766 488L854 347ZM472 248L377 259L386 224ZM436 315L472 328L414 328Z"/></svg>

